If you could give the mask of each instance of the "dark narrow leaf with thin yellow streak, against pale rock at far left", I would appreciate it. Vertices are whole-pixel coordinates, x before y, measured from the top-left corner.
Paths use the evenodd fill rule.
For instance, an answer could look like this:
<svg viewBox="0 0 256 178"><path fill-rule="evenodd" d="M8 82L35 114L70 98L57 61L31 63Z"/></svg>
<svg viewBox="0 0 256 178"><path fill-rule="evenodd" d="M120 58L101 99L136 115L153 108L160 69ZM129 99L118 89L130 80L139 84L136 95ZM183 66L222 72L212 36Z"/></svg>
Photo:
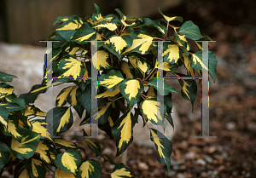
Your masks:
<svg viewBox="0 0 256 178"><path fill-rule="evenodd" d="M35 84L28 93L21 94L19 98L24 98L26 105L28 105L29 103L34 103L38 95L45 93L46 89L46 84Z"/></svg>

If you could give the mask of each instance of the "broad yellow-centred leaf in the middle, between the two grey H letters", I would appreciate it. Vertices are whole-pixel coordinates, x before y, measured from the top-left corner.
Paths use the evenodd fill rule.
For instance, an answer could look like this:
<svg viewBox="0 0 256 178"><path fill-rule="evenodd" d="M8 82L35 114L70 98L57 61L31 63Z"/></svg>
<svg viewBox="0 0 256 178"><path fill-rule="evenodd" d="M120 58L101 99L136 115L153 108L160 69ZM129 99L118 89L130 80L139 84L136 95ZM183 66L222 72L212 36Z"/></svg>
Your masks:
<svg viewBox="0 0 256 178"><path fill-rule="evenodd" d="M127 110L140 100L143 91L143 83L140 80L127 78L120 83L120 92L128 101Z"/></svg>

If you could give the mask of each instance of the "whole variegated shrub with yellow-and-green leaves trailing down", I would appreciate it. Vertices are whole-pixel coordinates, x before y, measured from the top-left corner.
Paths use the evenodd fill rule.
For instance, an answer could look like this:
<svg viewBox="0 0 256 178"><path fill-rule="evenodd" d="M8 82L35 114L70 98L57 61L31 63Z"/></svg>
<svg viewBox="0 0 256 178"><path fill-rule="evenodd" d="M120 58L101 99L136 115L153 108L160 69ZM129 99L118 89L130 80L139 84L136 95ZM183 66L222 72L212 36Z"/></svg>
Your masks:
<svg viewBox="0 0 256 178"><path fill-rule="evenodd" d="M0 72L0 175L4 167L16 165L15 177L43 178L46 167L55 167L55 177L99 178L102 175L100 158L114 164L111 177L133 177L131 170L123 163L114 163L113 158L102 153L99 143L91 141L84 132L83 141L96 153L96 159L82 157L83 147L54 136L65 133L73 125L73 112L78 112L80 125L98 122L116 142L116 157L121 155L133 140L133 128L139 116L144 125L148 122L164 128L164 120L172 124L172 93L176 89L163 82L164 117L160 112L158 70L171 73L175 77L201 76L201 70L207 67L202 62L202 43L195 40L211 40L202 37L198 26L185 21L180 27L172 26L172 21L183 22L179 16L150 20L148 18L129 17L119 9L117 14L104 16L96 10L84 19L71 15L58 17L54 22L59 25L48 40L53 43L52 74L53 83L73 83L64 88L55 99L52 108L53 135L46 126L47 113L34 106L38 95L46 92L46 55L44 57L44 79L32 89L17 97L11 82L15 76ZM188 42L196 43L198 51L192 51ZM97 100L98 112L91 113L91 41L97 43ZM158 43L163 41L163 62L158 62ZM212 52L209 56L209 74L215 82L217 60ZM184 66L186 74L177 73ZM178 80L185 100L195 101L197 84L195 80ZM22 87L22 86L20 86ZM135 112L131 112L134 108ZM85 117L82 118L85 111ZM172 142L157 129L149 128L151 141L154 142L157 159L170 169ZM82 132L82 129L81 129ZM149 136L149 135L148 135Z"/></svg>

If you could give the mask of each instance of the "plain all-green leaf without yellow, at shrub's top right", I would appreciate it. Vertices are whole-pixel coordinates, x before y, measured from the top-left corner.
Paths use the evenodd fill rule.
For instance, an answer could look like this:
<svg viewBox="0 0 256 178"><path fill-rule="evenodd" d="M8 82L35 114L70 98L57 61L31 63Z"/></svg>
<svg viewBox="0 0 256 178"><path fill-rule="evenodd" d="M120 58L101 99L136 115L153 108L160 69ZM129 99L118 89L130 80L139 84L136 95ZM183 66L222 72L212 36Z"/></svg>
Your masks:
<svg viewBox="0 0 256 178"><path fill-rule="evenodd" d="M198 40L203 37L203 36L201 36L199 27L196 26L191 20L185 21L183 23L183 25L179 29L179 34L185 35L185 37L192 39L192 40Z"/></svg>

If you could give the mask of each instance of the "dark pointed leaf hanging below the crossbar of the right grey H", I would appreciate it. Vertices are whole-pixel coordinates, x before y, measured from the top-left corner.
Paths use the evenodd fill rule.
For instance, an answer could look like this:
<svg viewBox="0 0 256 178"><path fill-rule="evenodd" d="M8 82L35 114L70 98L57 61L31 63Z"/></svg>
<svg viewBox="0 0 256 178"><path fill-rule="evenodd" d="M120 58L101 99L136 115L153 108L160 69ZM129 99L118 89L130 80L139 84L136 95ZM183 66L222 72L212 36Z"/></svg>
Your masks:
<svg viewBox="0 0 256 178"><path fill-rule="evenodd" d="M189 77L186 75L183 75L181 73L174 73L176 77ZM180 83L182 89L181 94L185 100L189 100L192 104L192 112L194 110L194 102L195 102L195 96L197 92L197 85L195 83L195 80L190 79L179 79L178 82Z"/></svg>

